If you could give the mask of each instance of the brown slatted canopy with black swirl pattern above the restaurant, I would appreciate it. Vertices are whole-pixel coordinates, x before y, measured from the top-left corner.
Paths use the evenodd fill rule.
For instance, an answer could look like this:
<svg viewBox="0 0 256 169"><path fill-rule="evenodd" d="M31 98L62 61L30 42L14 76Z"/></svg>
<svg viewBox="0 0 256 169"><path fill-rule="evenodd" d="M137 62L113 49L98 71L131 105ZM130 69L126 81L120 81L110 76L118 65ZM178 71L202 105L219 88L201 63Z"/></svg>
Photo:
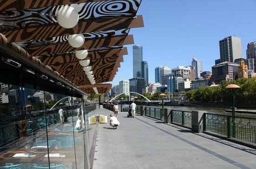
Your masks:
<svg viewBox="0 0 256 169"><path fill-rule="evenodd" d="M22 70L32 70L50 83L83 94L104 94L112 87L123 55L124 45L134 44L131 28L143 27L136 16L141 0L2 0L0 1L1 61L9 58ZM62 6L72 6L78 24L64 28L57 22ZM82 34L84 43L74 48L68 36ZM90 77L75 56L88 50ZM51 81L50 81L51 80ZM50 86L50 85L49 85Z"/></svg>

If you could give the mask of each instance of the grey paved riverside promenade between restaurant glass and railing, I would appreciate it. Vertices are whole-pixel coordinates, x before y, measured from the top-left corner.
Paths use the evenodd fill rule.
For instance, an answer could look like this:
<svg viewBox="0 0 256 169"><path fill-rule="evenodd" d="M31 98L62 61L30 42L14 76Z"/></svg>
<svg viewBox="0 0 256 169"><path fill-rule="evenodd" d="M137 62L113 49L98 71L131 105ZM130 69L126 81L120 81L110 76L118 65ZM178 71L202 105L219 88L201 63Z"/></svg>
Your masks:
<svg viewBox="0 0 256 169"><path fill-rule="evenodd" d="M94 169L256 169L255 149L137 114L118 120L99 125Z"/></svg>

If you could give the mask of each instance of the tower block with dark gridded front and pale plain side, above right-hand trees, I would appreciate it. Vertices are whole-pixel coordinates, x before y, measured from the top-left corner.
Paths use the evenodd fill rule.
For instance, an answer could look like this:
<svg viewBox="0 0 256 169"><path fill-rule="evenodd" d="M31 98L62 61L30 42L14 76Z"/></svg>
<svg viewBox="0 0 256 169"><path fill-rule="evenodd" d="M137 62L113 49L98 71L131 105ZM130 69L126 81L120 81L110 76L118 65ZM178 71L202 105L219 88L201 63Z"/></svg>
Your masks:
<svg viewBox="0 0 256 169"><path fill-rule="evenodd" d="M221 62L233 62L242 58L241 38L230 36L219 41Z"/></svg>

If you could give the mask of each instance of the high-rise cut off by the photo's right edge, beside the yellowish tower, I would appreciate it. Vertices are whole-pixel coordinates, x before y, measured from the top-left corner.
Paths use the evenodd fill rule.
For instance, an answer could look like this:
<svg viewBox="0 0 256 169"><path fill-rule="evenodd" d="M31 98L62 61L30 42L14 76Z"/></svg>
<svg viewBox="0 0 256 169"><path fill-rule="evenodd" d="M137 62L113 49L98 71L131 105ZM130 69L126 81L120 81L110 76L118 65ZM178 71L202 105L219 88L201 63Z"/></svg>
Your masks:
<svg viewBox="0 0 256 169"><path fill-rule="evenodd" d="M256 41L247 44L246 58L248 60L248 69L256 72Z"/></svg>

